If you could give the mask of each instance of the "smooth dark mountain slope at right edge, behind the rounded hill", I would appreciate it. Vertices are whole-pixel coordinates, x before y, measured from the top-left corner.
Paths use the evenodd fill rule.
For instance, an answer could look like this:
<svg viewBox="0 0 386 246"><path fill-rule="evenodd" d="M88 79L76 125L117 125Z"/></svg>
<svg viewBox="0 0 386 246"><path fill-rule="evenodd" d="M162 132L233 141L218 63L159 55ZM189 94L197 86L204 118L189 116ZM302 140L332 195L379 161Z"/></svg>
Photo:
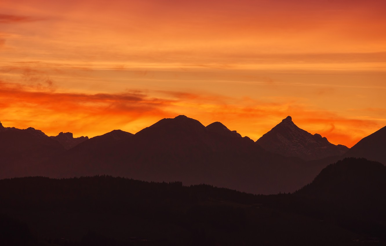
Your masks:
<svg viewBox="0 0 386 246"><path fill-rule="evenodd" d="M386 126L363 138L345 156L364 157L386 165Z"/></svg>

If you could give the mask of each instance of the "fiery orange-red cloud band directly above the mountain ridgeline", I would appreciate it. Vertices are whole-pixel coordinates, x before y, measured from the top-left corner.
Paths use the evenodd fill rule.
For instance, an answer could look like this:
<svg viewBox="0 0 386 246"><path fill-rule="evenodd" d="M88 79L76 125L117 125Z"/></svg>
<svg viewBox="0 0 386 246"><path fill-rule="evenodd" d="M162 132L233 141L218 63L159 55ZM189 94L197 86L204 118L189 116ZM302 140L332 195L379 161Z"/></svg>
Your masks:
<svg viewBox="0 0 386 246"><path fill-rule="evenodd" d="M73 131L75 135L94 136L117 128L135 133L162 118L180 114L204 125L221 121L254 140L291 115L299 127L349 147L383 126L378 120L353 119L313 108L298 98L275 98L270 102L165 90L63 93L0 82L3 125L33 126L51 135Z"/></svg>

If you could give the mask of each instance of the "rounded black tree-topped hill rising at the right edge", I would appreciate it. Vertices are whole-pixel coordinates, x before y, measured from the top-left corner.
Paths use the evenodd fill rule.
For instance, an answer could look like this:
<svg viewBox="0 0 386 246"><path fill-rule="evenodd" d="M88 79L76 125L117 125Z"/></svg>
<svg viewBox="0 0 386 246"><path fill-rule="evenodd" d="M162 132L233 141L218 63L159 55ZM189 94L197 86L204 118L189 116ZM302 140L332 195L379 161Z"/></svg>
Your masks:
<svg viewBox="0 0 386 246"><path fill-rule="evenodd" d="M313 213L336 219L353 231L386 236L386 167L364 158L328 165L295 195L306 198ZM317 205L319 204L319 205ZM334 218L335 217L335 218Z"/></svg>

